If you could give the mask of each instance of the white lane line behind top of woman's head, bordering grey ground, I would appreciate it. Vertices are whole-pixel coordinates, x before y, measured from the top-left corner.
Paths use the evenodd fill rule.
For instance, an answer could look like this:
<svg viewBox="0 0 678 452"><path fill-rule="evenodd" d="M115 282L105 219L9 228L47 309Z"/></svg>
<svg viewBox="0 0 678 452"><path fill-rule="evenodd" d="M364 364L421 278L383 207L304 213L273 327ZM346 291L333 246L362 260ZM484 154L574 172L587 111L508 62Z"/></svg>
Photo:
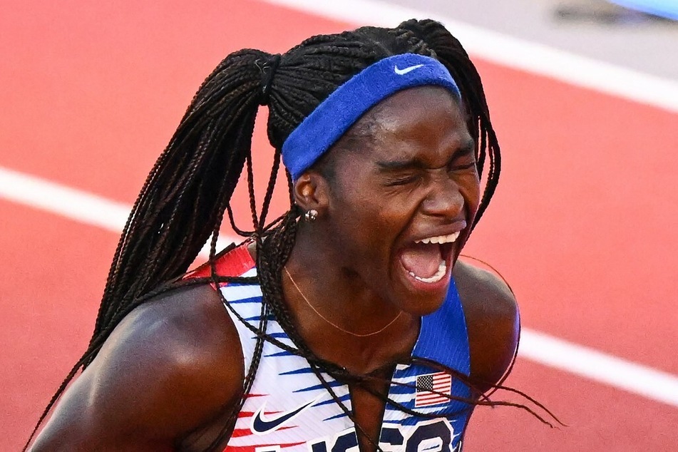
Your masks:
<svg viewBox="0 0 678 452"><path fill-rule="evenodd" d="M396 26L401 21L436 19L445 24L473 56L510 68L555 78L583 88L678 112L678 82L540 43L464 24L434 11L411 9L379 0L264 0L356 26Z"/></svg>

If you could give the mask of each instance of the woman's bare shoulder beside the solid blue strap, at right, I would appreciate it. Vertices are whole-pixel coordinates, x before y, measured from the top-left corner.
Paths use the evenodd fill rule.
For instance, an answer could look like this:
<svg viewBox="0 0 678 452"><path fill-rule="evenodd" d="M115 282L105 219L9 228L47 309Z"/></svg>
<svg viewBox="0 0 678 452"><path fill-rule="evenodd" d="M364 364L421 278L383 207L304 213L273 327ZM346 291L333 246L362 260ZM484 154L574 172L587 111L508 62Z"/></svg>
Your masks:
<svg viewBox="0 0 678 452"><path fill-rule="evenodd" d="M471 378L490 389L510 366L518 346L520 314L499 277L459 260L454 278L461 297L471 349Z"/></svg>

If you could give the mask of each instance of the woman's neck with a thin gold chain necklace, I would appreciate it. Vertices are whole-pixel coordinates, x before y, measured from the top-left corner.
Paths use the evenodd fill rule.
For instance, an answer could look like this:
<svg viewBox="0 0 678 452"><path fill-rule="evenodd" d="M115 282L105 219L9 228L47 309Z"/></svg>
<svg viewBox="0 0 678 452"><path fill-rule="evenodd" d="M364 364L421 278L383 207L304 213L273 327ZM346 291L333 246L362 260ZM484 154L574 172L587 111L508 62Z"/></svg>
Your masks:
<svg viewBox="0 0 678 452"><path fill-rule="evenodd" d="M361 373L409 354L419 319L375 294L327 235L318 237L311 229L316 228L299 227L286 264L296 287L282 274L285 298L307 344L319 356Z"/></svg>

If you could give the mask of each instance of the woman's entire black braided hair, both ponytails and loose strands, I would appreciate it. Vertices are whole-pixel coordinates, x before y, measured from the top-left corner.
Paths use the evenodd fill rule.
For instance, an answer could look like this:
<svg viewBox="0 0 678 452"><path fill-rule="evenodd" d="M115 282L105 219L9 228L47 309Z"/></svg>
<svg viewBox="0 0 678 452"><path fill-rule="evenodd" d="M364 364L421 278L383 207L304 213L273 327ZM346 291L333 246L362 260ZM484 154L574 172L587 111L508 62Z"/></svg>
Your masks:
<svg viewBox="0 0 678 452"><path fill-rule="evenodd" d="M272 341L283 349L304 356L334 401L353 418L322 373L353 384L368 383L376 377L352 375L336 364L319 359L300 337L284 302L281 272L294 246L299 217L299 209L292 200L289 173L289 211L268 223L267 214L279 170L282 144L287 136L342 83L372 63L401 53L436 58L446 66L461 91L462 103L468 113L468 130L476 141L478 174L485 181L473 223L475 227L498 183L499 145L490 123L481 78L461 43L441 24L412 19L394 29L363 27L340 34L318 35L282 55L254 49L231 53L202 83L170 143L150 170L115 250L88 349L49 401L31 438L68 383L80 369L91 363L125 315L158 294L207 281L215 284L225 281L258 282L263 293L259 326L252 327L245 322L258 337L255 357L245 376L245 394L209 450L229 436L237 412L254 381L264 341ZM257 111L262 105L269 109L267 135L274 148L274 158L262 207L257 210L252 175L252 133ZM252 231L249 232L235 225L230 205L245 168L252 213ZM251 235L256 242L255 280L222 277L216 272L217 237L225 215L237 233ZM182 279L210 236L211 276ZM287 332L294 346L266 333L266 319L271 314ZM475 395L472 399L449 396L452 399L466 401L472 406L520 406L534 414L527 406L489 401L481 391L473 391L467 376L446 366L416 357L408 362L447 371L466 382ZM403 411L410 411L387 399L384 394L374 391L373 394Z"/></svg>

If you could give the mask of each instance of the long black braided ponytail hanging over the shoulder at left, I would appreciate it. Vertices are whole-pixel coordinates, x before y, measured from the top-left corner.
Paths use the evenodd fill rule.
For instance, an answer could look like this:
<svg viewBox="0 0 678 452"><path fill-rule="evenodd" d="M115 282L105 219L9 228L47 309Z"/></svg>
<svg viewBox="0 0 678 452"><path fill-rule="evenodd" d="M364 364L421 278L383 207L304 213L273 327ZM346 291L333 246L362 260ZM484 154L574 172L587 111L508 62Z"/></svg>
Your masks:
<svg viewBox="0 0 678 452"><path fill-rule="evenodd" d="M260 90L254 62L266 56L252 50L232 53L193 98L135 200L88 349L46 406L38 426L120 320L163 282L185 273L212 234L222 215L220 206L230 200L250 152Z"/></svg>

